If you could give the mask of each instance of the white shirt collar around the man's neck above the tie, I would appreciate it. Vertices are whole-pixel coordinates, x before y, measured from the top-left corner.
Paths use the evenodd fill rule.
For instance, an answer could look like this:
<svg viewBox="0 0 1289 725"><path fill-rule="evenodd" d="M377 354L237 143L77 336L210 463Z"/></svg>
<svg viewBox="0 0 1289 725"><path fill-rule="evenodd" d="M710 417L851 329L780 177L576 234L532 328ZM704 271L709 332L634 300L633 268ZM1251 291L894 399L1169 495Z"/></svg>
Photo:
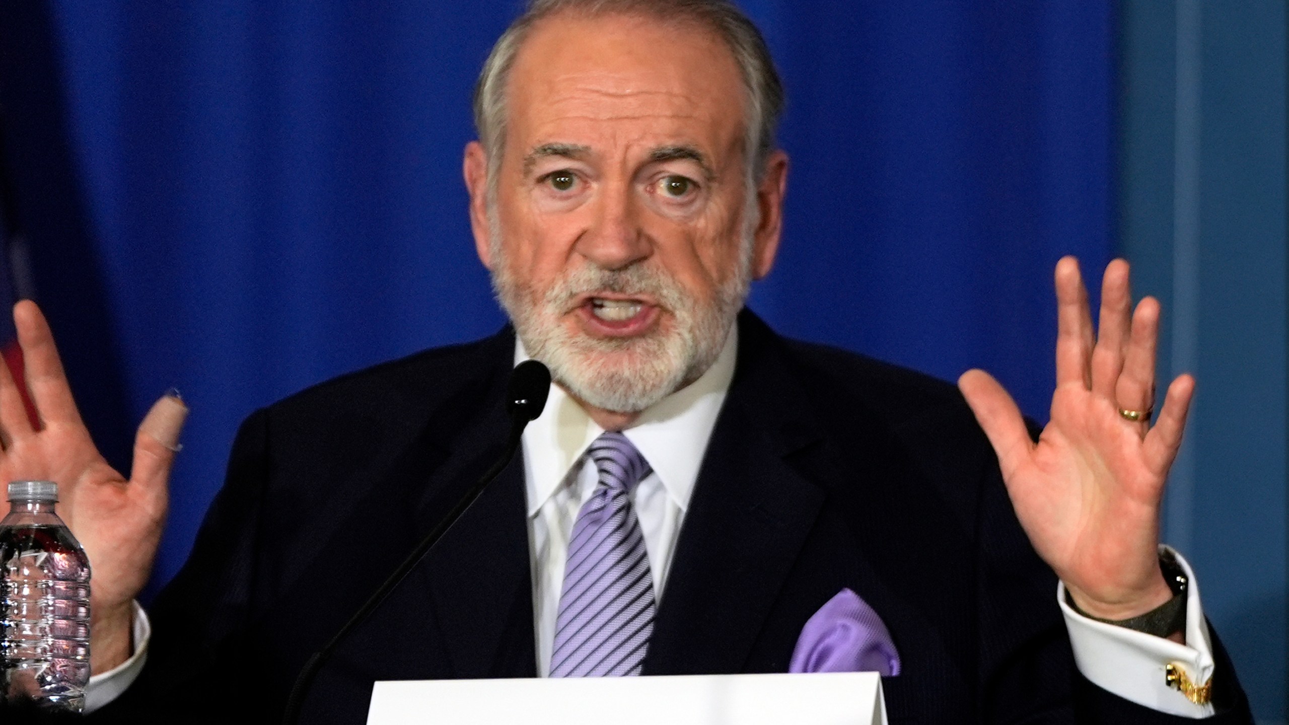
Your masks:
<svg viewBox="0 0 1289 725"><path fill-rule="evenodd" d="M737 347L739 330L733 325L721 355L706 373L647 408L632 427L623 431L648 461L668 497L681 511L690 506L703 454L730 391ZM523 343L516 338L516 364L527 359ZM523 431L530 517L559 489L568 471L603 432L577 401L563 388L550 383L547 406Z"/></svg>

